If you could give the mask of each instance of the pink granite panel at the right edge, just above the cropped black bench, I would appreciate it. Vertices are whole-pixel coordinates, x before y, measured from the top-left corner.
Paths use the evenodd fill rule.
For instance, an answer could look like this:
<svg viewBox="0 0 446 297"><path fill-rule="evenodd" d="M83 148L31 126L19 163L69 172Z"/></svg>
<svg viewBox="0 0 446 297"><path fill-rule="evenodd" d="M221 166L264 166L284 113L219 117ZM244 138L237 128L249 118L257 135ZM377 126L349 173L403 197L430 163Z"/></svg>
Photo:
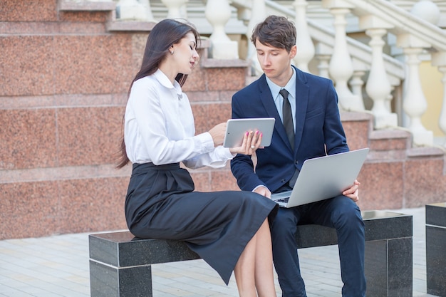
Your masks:
<svg viewBox="0 0 446 297"><path fill-rule="evenodd" d="M408 159L405 165L405 207L446 201L446 176L441 158Z"/></svg>

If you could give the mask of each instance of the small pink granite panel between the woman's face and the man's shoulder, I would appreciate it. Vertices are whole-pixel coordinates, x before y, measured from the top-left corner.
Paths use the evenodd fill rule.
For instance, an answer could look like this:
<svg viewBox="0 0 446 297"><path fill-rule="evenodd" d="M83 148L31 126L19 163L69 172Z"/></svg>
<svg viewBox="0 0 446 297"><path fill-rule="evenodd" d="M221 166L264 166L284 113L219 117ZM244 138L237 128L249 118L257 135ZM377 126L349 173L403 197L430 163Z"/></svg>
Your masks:
<svg viewBox="0 0 446 297"><path fill-rule="evenodd" d="M245 86L246 68L208 68L208 90L240 90Z"/></svg>

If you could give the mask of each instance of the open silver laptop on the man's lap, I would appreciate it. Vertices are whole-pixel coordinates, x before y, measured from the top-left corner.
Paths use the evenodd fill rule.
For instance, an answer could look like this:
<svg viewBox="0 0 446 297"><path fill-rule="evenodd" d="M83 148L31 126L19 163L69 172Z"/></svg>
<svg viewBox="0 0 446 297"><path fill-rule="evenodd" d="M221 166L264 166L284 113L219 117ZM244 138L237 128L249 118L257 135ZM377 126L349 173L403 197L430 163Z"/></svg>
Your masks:
<svg viewBox="0 0 446 297"><path fill-rule="evenodd" d="M353 185L368 150L367 147L306 160L293 190L274 193L271 199L280 207L296 207L338 196Z"/></svg>

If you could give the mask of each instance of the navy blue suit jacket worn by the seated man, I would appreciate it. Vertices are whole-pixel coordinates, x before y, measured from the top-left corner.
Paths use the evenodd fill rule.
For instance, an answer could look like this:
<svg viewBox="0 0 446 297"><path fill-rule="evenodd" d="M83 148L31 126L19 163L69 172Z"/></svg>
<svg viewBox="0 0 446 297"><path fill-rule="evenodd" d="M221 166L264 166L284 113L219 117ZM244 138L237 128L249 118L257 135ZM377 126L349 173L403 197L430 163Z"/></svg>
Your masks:
<svg viewBox="0 0 446 297"><path fill-rule="evenodd" d="M294 67L294 66L293 66ZM256 168L250 156L237 155L231 170L240 189L265 185L271 192L283 186L304 160L348 151L331 80L296 70L296 136L294 151L286 137L265 75L232 97L232 118L276 118L271 145L256 150Z"/></svg>

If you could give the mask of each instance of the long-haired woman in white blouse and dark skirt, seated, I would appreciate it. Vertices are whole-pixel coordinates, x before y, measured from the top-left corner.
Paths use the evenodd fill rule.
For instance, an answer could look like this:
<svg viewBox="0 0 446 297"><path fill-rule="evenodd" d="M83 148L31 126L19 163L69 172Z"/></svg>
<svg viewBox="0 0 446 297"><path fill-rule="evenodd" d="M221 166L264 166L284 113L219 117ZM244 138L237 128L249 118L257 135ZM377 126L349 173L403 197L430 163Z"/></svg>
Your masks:
<svg viewBox="0 0 446 297"><path fill-rule="evenodd" d="M275 297L268 217L277 206L252 192L194 192L180 162L223 167L237 153L252 154L261 133L241 147L222 147L226 123L195 135L192 109L181 85L198 61L195 28L160 21L147 39L124 120L122 160L133 163L125 200L129 230L140 238L186 241L225 283L234 271L240 296Z"/></svg>

